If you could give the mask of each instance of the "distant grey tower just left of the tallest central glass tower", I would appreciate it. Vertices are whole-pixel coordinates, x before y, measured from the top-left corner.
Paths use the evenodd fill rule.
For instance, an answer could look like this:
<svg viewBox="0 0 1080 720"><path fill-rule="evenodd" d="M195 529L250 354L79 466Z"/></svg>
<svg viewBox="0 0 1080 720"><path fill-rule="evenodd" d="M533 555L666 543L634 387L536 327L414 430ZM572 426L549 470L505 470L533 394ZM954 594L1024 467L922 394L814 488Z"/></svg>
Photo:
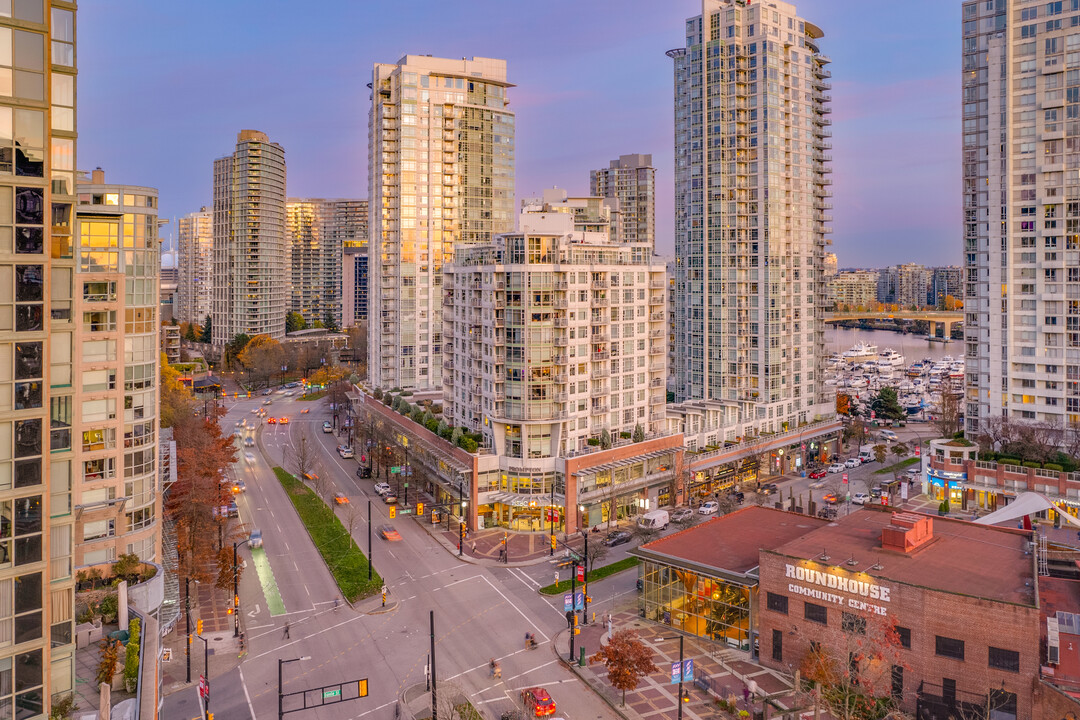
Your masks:
<svg viewBox="0 0 1080 720"><path fill-rule="evenodd" d="M590 171L589 193L619 201L620 223L612 242L657 246L657 168L651 154L619 155L607 167Z"/></svg>

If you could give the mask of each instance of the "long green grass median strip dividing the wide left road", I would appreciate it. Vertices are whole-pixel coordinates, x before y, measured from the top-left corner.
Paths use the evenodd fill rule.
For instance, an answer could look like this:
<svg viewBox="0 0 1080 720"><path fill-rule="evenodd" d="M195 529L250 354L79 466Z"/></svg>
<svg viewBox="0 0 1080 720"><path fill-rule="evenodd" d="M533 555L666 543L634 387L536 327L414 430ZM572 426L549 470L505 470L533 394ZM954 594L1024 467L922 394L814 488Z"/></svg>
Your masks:
<svg viewBox="0 0 1080 720"><path fill-rule="evenodd" d="M367 579L368 560L360 552L355 541L341 525L341 520L321 498L286 473L281 467L273 468L281 486L293 501L296 514L308 529L311 542L322 555L326 568L334 575L334 581L341 590L341 597L349 602L355 602L378 593L382 587L379 573L372 571L372 580Z"/></svg>

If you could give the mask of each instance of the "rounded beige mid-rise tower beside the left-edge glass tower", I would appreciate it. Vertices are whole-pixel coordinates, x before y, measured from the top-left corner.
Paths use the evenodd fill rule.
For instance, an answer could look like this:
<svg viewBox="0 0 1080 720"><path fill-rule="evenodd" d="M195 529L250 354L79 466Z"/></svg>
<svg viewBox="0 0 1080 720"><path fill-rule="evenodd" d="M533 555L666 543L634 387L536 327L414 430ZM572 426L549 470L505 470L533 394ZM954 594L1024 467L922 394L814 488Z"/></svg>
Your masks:
<svg viewBox="0 0 1080 720"><path fill-rule="evenodd" d="M158 191L80 181L72 500L76 567L161 561Z"/></svg>

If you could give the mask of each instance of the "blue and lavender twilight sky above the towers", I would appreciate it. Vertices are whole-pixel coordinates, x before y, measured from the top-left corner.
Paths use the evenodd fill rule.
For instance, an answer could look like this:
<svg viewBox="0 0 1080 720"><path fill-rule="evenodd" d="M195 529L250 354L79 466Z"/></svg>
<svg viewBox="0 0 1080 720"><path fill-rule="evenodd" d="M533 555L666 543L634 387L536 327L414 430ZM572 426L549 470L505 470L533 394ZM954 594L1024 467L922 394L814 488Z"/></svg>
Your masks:
<svg viewBox="0 0 1080 720"><path fill-rule="evenodd" d="M833 72L833 250L841 268L959 264L959 0L802 0ZM306 8L318 8L308 12ZM674 253L673 69L693 0L98 0L79 10L81 169L211 205L237 133L285 148L289 196L367 198L366 84L405 54L508 62L517 196L588 194L620 154L657 167Z"/></svg>

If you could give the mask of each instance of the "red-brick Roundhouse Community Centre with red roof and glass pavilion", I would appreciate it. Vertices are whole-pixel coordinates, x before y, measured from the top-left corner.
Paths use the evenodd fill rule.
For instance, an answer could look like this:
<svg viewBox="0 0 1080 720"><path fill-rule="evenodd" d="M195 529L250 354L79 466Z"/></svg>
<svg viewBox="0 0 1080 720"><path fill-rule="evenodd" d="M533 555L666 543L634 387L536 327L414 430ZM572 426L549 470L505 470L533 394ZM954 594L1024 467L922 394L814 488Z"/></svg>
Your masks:
<svg viewBox="0 0 1080 720"><path fill-rule="evenodd" d="M825 658L926 720L1049 717L1069 702L1080 714L1037 680L1039 586L1061 581L1038 575L1029 531L881 506L835 522L746 507L631 554L647 620L769 667L806 677ZM1080 610L1080 595L1058 595L1055 609Z"/></svg>

